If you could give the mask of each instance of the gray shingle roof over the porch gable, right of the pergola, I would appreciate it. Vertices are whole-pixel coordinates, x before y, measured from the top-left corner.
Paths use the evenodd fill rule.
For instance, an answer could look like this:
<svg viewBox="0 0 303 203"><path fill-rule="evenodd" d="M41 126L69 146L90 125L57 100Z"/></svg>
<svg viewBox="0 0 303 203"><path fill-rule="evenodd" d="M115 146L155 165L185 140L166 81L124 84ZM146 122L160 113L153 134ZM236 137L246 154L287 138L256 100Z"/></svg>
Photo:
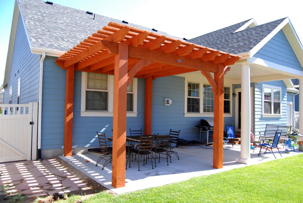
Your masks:
<svg viewBox="0 0 303 203"><path fill-rule="evenodd" d="M246 53L270 34L285 19L286 18L282 18L234 33L234 31L249 21L246 20L208 34L189 39L187 42L225 51L230 54Z"/></svg>

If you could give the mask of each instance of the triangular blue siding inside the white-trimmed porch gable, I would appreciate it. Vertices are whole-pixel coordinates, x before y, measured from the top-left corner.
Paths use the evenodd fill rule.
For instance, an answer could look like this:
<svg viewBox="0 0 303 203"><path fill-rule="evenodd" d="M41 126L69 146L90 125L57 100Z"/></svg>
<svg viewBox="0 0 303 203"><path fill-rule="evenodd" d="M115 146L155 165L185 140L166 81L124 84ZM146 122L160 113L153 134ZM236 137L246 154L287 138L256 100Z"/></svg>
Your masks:
<svg viewBox="0 0 303 203"><path fill-rule="evenodd" d="M284 32L280 30L255 55L266 61L284 65L302 71L303 68L291 48Z"/></svg>

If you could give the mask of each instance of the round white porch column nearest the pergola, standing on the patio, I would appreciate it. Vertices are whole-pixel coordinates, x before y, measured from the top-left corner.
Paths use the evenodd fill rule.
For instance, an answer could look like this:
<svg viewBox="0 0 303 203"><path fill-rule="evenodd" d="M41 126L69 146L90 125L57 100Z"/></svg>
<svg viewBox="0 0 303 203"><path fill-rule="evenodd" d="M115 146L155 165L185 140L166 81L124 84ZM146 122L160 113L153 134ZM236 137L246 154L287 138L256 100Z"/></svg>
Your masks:
<svg viewBox="0 0 303 203"><path fill-rule="evenodd" d="M250 65L241 65L241 152L237 162L248 164L250 159Z"/></svg>

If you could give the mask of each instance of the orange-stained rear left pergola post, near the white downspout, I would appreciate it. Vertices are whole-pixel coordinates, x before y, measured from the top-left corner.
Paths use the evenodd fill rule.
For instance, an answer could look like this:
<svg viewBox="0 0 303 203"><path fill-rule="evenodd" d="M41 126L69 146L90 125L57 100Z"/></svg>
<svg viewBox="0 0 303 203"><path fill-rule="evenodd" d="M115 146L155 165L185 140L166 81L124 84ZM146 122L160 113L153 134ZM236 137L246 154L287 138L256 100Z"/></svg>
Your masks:
<svg viewBox="0 0 303 203"><path fill-rule="evenodd" d="M64 156L72 156L73 143L73 99L74 99L75 65L66 69L65 83L65 123L64 123Z"/></svg>

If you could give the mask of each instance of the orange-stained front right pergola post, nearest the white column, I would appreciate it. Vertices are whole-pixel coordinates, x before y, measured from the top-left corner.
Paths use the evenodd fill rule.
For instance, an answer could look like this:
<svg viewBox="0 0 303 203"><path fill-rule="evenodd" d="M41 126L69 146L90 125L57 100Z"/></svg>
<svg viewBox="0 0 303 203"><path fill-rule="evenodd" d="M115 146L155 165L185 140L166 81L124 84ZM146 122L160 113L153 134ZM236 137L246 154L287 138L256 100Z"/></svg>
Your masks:
<svg viewBox="0 0 303 203"><path fill-rule="evenodd" d="M217 84L217 94L214 94L213 168L223 168L224 68L224 65L219 64L218 72L214 75L215 83Z"/></svg>

